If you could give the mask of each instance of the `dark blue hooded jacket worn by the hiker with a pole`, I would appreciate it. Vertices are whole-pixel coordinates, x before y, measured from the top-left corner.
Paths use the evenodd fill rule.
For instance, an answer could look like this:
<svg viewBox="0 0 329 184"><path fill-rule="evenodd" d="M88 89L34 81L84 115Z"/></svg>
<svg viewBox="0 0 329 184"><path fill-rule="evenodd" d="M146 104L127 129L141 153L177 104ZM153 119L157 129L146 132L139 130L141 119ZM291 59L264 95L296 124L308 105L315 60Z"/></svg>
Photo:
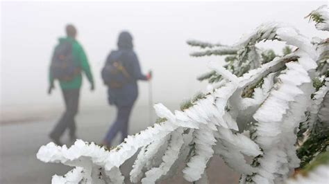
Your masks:
<svg viewBox="0 0 329 184"><path fill-rule="evenodd" d="M143 75L140 69L140 62L133 50L132 40L133 38L128 32L122 32L119 35L118 50L113 50L106 59L106 62L109 62L111 57L121 55L124 67L130 75L129 82L122 88L108 88L108 102L118 107L132 106L138 96L137 80L147 80L146 75Z"/></svg>

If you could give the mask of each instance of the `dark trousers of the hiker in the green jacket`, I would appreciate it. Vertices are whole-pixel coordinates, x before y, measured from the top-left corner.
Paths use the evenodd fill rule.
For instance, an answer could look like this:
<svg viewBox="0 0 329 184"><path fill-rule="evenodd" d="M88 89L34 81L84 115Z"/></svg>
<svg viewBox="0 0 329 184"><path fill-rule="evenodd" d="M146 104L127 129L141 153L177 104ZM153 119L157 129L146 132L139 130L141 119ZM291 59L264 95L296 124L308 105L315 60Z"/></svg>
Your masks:
<svg viewBox="0 0 329 184"><path fill-rule="evenodd" d="M60 138L65 129L68 128L69 136L73 138L76 136L76 122L74 118L76 113L78 113L80 89L62 89L62 94L65 101L65 112L53 131L51 131L50 136L53 138Z"/></svg>

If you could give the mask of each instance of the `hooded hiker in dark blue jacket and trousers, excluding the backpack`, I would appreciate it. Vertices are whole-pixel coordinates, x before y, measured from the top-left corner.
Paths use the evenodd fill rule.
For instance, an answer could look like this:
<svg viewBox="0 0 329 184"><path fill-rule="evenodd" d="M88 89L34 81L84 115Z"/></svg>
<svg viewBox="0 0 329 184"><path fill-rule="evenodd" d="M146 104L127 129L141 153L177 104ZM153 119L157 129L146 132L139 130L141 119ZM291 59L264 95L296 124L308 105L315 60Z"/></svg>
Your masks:
<svg viewBox="0 0 329 184"><path fill-rule="evenodd" d="M126 31L120 33L117 46L118 50L114 50L108 55L104 67L109 65L113 60L119 59L122 65L121 71L123 75L126 75L126 79L119 86L107 84L108 102L117 107L117 118L106 134L106 138L103 140L103 144L108 146L111 145L112 139L115 138L119 131L121 132L122 141L128 136L129 116L138 96L137 80L151 80L151 73L143 75L141 72L140 62L133 50L133 37L130 33Z"/></svg>

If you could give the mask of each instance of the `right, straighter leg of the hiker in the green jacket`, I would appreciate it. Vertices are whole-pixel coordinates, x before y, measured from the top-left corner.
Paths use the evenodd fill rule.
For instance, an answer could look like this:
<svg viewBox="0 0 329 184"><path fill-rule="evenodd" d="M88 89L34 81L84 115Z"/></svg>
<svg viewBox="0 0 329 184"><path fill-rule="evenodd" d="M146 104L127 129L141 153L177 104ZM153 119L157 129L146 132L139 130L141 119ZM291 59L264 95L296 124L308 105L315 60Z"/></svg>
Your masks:
<svg viewBox="0 0 329 184"><path fill-rule="evenodd" d="M78 104L79 104L80 89L71 89L69 93L69 100L67 103L67 109L69 118L67 120L67 127L69 128L69 136L71 140L76 140L76 122L75 117L78 113Z"/></svg>

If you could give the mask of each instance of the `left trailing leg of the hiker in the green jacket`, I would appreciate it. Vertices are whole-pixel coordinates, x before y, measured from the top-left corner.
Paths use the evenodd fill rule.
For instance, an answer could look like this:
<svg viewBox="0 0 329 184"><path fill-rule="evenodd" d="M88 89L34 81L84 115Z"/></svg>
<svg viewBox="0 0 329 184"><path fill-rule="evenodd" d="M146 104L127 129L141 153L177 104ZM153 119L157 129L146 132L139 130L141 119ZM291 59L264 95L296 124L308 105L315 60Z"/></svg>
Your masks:
<svg viewBox="0 0 329 184"><path fill-rule="evenodd" d="M67 108L67 104L69 101L68 93L69 91L62 89L62 96L65 102L65 112L63 113L62 118L60 118L58 123L53 128L53 131L51 131L51 133L49 134L50 138L53 139L53 141L58 145L61 145L59 139L67 127L67 119L69 118L69 113Z"/></svg>

